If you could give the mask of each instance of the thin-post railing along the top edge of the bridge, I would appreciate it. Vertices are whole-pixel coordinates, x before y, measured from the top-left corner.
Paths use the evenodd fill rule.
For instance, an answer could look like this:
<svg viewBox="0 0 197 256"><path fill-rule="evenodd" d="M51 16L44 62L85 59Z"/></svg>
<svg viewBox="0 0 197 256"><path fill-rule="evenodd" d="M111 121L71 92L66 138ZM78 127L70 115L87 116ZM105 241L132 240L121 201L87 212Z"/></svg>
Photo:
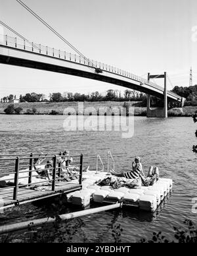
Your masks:
<svg viewBox="0 0 197 256"><path fill-rule="evenodd" d="M148 84L149 86L152 86L153 88L156 88L164 92L164 88L158 86L158 84L155 84L154 82L143 79L142 77L134 75L130 72L117 69L116 67L113 67L111 65L106 65L104 63L100 63L99 61L94 61L93 59L85 59L73 53L61 51L60 49L49 48L48 46L42 46L41 44L35 44L33 42L26 42L25 40L22 40L20 38L14 38L12 36L1 35L1 38L3 38L3 40L2 42L0 41L0 44L3 44L5 46L23 49L25 51L31 51L34 53L55 57L58 59L64 59L65 61L72 61L74 63L79 63L81 65L86 65L89 67L97 67L99 69L102 69L103 71L108 71L110 73L121 75L122 77L127 77L129 79L136 80L137 82L141 82L141 84ZM176 94L173 94L171 92L168 93L177 97Z"/></svg>

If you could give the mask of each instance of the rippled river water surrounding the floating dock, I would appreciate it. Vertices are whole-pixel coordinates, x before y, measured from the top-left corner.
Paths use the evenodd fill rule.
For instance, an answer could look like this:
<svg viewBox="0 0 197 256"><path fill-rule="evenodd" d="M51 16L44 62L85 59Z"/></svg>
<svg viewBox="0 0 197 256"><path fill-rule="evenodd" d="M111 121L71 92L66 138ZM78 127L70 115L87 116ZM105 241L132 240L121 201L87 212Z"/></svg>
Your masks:
<svg viewBox="0 0 197 256"><path fill-rule="evenodd" d="M96 116L91 118L97 120ZM128 121L128 117L124 118ZM0 115L0 154L68 148L72 154L83 153L84 163L95 170L97 154L106 162L110 150L116 170L129 170L133 158L141 156L146 174L149 166L158 166L161 176L174 181L173 193L154 214L112 210L72 220L78 228L75 241L82 241L82 236L87 241L113 241L114 224L121 224L123 242L151 238L152 232L160 230L167 238L173 238L173 226L183 226L187 218L197 222L197 214L192 213L192 199L197 197L197 157L192 152L196 126L192 118L135 117L134 135L127 139L121 131L65 131L64 119L62 115ZM43 216L45 212L39 204L28 204L5 210L0 221L7 224Z"/></svg>

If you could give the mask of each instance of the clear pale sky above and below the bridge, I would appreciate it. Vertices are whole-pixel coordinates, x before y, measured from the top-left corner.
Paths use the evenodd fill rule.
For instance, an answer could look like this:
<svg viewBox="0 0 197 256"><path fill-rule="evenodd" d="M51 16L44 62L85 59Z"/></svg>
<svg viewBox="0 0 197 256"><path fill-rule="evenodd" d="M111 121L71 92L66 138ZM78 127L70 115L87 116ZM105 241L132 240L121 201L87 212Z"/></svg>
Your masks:
<svg viewBox="0 0 197 256"><path fill-rule="evenodd" d="M86 57L144 78L167 72L173 86L197 84L196 0L22 0ZM74 53L16 0L0 0L0 20L28 40ZM15 36L0 27L0 32ZM0 65L0 98L29 92L80 92L120 86ZM162 80L156 80L162 85ZM168 82L168 89L171 84Z"/></svg>

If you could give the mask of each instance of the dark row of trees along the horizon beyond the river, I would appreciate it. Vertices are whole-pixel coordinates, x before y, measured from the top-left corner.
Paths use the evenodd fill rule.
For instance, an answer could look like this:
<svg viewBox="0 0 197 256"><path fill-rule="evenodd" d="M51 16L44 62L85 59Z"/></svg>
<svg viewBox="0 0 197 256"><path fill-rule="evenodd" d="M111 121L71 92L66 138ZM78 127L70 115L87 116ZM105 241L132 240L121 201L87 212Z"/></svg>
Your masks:
<svg viewBox="0 0 197 256"><path fill-rule="evenodd" d="M197 106L197 84L189 87L175 86L172 90L181 97L186 98L185 106ZM2 102L10 102L16 100L16 96L10 94L1 98ZM53 92L47 97L45 94L37 94L35 92L27 93L24 96L20 95L20 102L101 102L101 101L117 101L117 102L144 102L146 104L146 94L135 90L125 90L123 93L119 90L107 90L105 94L100 94L98 91L90 94L81 94L79 92ZM162 101L154 101L157 104L163 104Z"/></svg>

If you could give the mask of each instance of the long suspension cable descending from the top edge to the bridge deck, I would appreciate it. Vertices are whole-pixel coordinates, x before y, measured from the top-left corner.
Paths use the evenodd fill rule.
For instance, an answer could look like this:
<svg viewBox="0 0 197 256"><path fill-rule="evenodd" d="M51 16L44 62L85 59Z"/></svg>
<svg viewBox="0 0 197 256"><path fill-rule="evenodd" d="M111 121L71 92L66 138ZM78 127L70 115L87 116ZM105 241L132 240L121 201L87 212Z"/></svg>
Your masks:
<svg viewBox="0 0 197 256"><path fill-rule="evenodd" d="M74 51L76 51L77 54L79 54L81 57L83 57L86 61L88 61L88 63L91 63L91 65L97 69L97 67L95 67L94 63L92 61L90 61L87 57L85 57L85 55L83 55L83 53L81 53L79 50L77 50L74 46L72 46L72 44L70 44L63 36L61 36L54 28L52 28L47 22L45 22L45 20L43 20L43 18L41 18L39 15L37 15L35 12L32 11L32 9L30 9L25 3L23 3L20 0L16 0L18 3L20 3L20 5L22 5L22 7L24 7L27 11L29 11L33 16L35 16L35 18L37 18L40 22L42 22L45 26L47 26L47 28L49 28L49 30L51 30L54 34L56 34L56 36L58 36L58 38L60 38L64 43L66 43L68 46L70 46L70 48L74 49Z"/></svg>

